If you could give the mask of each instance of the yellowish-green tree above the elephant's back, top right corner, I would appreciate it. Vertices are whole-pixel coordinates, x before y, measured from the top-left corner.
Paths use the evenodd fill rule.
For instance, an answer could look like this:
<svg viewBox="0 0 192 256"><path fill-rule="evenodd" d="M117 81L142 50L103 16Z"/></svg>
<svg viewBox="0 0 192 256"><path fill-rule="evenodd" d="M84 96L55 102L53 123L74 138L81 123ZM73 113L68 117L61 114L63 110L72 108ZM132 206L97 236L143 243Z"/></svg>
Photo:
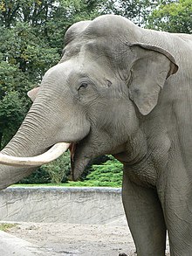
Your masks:
<svg viewBox="0 0 192 256"><path fill-rule="evenodd" d="M161 1L159 8L154 10L148 19L148 28L176 33L191 33L192 1Z"/></svg>

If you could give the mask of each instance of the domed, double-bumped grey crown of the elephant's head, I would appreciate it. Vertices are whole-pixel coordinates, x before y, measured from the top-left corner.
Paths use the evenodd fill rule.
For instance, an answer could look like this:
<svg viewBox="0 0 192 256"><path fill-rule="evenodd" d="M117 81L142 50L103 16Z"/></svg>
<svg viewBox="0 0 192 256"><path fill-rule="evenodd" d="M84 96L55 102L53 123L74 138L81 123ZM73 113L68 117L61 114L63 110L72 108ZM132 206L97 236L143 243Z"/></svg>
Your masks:
<svg viewBox="0 0 192 256"><path fill-rule="evenodd" d="M76 27L80 27L75 30ZM75 31L75 32L74 32ZM138 31L139 33L139 31ZM103 54L108 57L125 53L125 43L134 42L137 38L135 25L124 17L106 15L93 21L72 25L65 35L65 59L80 54ZM70 38L70 39L69 39ZM127 46L126 46L127 47ZM123 54L124 54L123 53Z"/></svg>

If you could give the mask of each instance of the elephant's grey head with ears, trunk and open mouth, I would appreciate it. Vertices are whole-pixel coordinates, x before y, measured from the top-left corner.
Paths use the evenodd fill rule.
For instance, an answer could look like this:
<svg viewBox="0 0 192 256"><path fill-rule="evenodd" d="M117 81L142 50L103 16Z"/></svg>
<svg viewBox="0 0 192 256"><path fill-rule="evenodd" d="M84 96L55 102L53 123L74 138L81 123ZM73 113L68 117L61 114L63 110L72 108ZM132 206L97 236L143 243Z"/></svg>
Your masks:
<svg viewBox="0 0 192 256"><path fill-rule="evenodd" d="M34 102L3 149L1 163L9 164L6 155L37 156L58 142L71 149L74 180L95 156L139 159L139 116L153 111L166 80L177 71L169 52L141 43L143 32L113 15L73 24L65 34L62 59L29 93ZM32 170L1 165L1 187Z"/></svg>

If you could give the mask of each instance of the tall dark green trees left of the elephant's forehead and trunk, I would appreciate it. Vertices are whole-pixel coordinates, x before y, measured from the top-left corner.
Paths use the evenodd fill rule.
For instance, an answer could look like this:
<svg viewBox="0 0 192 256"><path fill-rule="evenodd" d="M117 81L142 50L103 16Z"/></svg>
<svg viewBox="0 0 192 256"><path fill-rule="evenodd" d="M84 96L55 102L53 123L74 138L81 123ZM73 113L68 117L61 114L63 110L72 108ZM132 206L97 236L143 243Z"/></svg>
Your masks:
<svg viewBox="0 0 192 256"><path fill-rule="evenodd" d="M97 1L86 0L0 2L0 142L3 140L3 145L16 132L31 106L27 91L37 86L45 72L58 63L67 28L76 21L94 17L97 6ZM8 106L11 106L9 114Z"/></svg>

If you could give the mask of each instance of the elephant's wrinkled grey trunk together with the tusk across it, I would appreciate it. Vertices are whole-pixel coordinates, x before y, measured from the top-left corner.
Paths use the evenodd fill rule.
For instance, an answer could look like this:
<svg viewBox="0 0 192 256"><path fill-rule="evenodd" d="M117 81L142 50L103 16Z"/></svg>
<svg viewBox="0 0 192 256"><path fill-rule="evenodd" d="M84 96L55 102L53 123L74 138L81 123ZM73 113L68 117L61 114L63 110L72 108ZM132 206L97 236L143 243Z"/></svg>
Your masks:
<svg viewBox="0 0 192 256"><path fill-rule="evenodd" d="M54 114L54 117L48 121L47 115L49 110L47 110L46 107L41 109L41 111L39 109L38 101L37 103L34 102L24 122L18 129L17 134L1 151L0 158L2 157L1 160L3 162L0 163L8 164L11 160L14 165L16 164L20 167L0 164L0 190L12 183L17 183L25 176L29 176L35 169L34 165L38 166L50 162L50 160L61 155L64 150L69 147L69 143L58 143L57 146L53 147L53 149L59 149L57 156L55 156L55 150L50 148L58 142L56 140L57 131L54 128L56 119L58 118L57 114ZM51 151L46 152L47 149ZM38 156L42 153L45 153L45 155L43 154L43 159L41 156ZM12 158L9 156L16 157ZM31 157L26 159L24 156L36 157L34 159ZM51 159L49 158L50 156ZM17 157L21 158L17 159ZM20 163L17 163L17 160L19 160ZM33 162L33 160L35 162ZM29 161L31 163L29 163ZM29 167L30 165L33 167Z"/></svg>

